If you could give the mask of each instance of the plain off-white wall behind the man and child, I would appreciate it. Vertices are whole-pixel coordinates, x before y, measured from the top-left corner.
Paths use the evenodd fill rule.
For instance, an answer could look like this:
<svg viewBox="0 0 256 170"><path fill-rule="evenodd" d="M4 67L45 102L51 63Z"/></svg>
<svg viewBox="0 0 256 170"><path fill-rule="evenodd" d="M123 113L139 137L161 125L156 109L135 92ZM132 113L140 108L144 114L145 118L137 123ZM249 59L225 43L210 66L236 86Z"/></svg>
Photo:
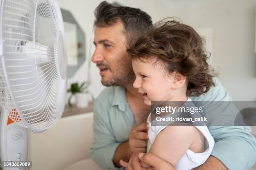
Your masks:
<svg viewBox="0 0 256 170"><path fill-rule="evenodd" d="M72 78L69 78L68 85L71 82L87 80L93 14L100 2L100 0L59 0L60 6L71 11L87 36L87 62ZM220 67L221 82L234 100L256 100L255 0L116 0L115 2L141 8L151 15L154 22L164 17L177 16L195 29L210 28L213 66ZM90 91L97 96L104 87L100 84L99 70L93 63L91 78Z"/></svg>

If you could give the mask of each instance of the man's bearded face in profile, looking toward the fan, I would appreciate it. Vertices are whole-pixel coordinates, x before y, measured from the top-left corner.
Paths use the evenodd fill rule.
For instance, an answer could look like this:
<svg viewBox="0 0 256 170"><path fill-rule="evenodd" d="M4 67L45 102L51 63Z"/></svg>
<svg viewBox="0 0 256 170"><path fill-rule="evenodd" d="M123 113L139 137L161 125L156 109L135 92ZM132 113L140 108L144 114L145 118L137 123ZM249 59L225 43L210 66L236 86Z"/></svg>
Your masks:
<svg viewBox="0 0 256 170"><path fill-rule="evenodd" d="M105 86L132 83L135 76L131 57L126 52L123 24L118 22L107 27L95 27L94 44L92 62L100 69L101 83Z"/></svg>

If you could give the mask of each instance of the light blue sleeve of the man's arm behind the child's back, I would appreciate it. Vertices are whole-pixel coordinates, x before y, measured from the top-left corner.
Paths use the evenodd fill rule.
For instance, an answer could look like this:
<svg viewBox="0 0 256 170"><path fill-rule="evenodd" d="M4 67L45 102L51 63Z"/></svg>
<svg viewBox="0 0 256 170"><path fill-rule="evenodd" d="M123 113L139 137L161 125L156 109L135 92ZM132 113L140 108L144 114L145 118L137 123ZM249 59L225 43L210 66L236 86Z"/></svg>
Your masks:
<svg viewBox="0 0 256 170"><path fill-rule="evenodd" d="M191 97L195 101L232 101L227 90L215 78L216 86L199 97ZM221 116L221 113L219 114ZM215 140L212 156L218 158L230 170L248 170L256 160L256 139L251 135L249 126L208 126ZM217 160L215 160L217 161ZM206 162L207 163L207 162ZM213 163L208 162L210 166ZM211 165L212 170L215 164Z"/></svg>

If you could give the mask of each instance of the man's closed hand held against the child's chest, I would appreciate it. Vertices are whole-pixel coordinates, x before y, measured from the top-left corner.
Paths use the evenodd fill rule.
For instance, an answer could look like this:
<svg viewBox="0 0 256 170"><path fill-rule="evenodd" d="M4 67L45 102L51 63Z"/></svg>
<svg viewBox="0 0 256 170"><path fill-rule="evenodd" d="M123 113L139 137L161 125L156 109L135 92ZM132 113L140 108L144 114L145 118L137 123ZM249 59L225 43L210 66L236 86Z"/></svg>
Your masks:
<svg viewBox="0 0 256 170"><path fill-rule="evenodd" d="M141 123L132 128L129 134L129 148L131 153L146 153L148 140L147 123Z"/></svg>

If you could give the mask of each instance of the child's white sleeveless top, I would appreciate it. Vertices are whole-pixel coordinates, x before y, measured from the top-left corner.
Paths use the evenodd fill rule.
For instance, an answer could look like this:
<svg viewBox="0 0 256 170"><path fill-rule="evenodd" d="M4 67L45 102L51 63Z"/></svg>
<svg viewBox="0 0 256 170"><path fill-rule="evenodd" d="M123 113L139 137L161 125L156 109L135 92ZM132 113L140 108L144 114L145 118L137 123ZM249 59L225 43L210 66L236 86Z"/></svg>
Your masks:
<svg viewBox="0 0 256 170"><path fill-rule="evenodd" d="M190 98L187 101L191 101ZM190 102L192 103L192 102ZM151 113L148 115L148 119L150 117ZM152 144L154 143L154 140L156 136L167 126L151 126L151 122L147 119L148 122L148 144L147 144L147 153L149 149L151 148ZM214 139L212 138L212 135L210 134L208 128L206 125L204 126L195 126L198 130L201 131L201 133L204 135L205 139L205 152L203 153L194 153L192 150L187 150L186 153L182 156L181 160L179 160L179 163L175 166L177 170L191 170L195 167L198 167L199 165L202 165L205 163L207 158L210 156L212 152L212 148L214 146Z"/></svg>

